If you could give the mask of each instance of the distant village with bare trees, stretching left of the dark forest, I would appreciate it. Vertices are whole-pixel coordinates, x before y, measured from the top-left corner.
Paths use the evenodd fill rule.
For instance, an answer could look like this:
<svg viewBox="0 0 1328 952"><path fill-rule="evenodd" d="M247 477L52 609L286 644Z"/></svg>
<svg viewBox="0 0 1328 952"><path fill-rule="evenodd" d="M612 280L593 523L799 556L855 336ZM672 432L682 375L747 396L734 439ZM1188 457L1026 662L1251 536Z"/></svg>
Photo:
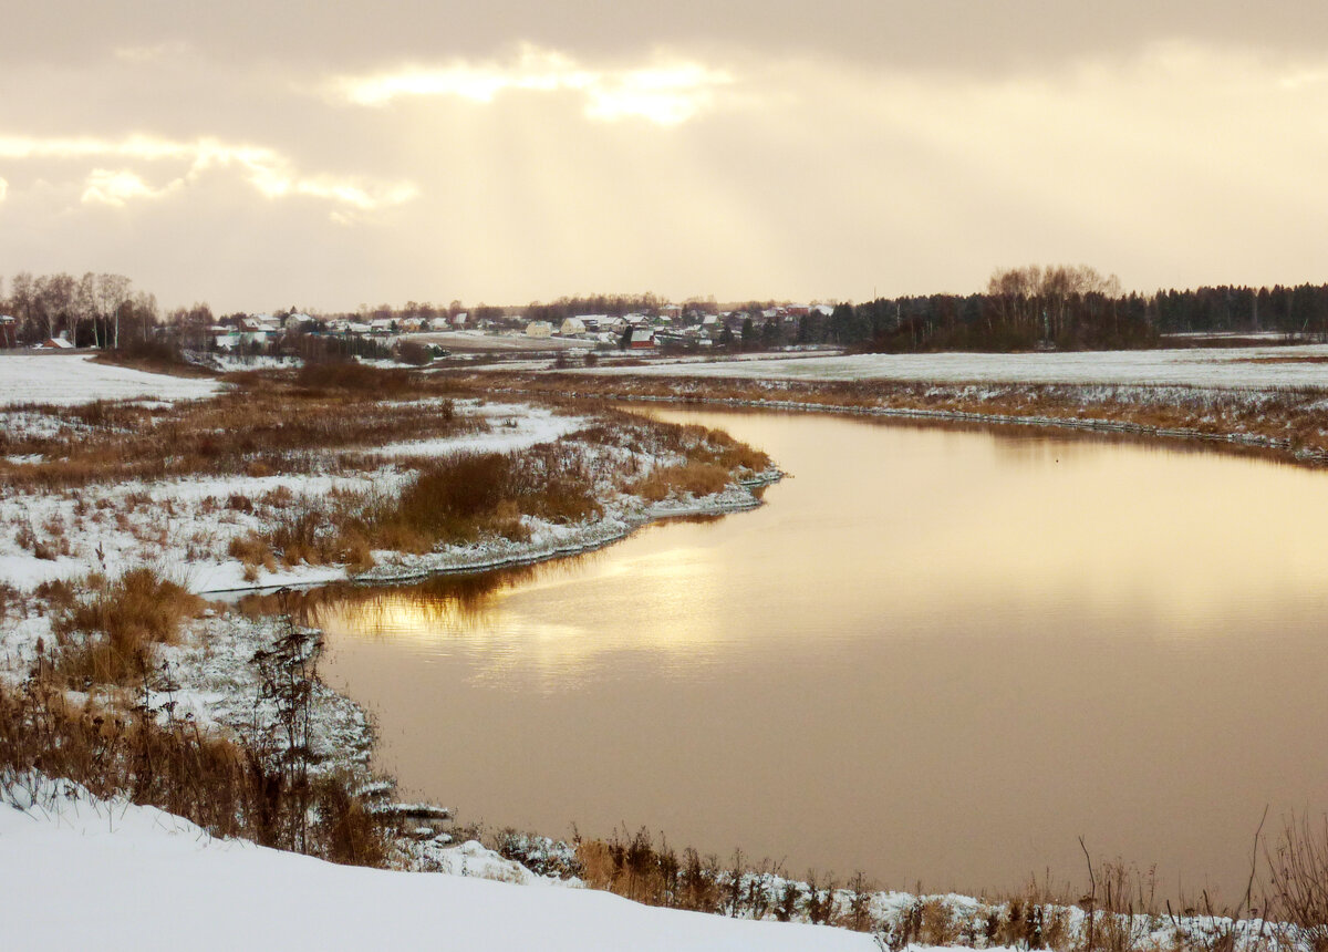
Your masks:
<svg viewBox="0 0 1328 952"><path fill-rule="evenodd" d="M604 351L705 352L826 343L831 304L710 300L655 295L560 297L548 304L401 307L316 313L299 308L215 315L207 304L162 315L153 295L121 275L19 274L0 297L0 349L85 351L167 345L231 356L341 355L422 364L482 353L592 355Z"/></svg>

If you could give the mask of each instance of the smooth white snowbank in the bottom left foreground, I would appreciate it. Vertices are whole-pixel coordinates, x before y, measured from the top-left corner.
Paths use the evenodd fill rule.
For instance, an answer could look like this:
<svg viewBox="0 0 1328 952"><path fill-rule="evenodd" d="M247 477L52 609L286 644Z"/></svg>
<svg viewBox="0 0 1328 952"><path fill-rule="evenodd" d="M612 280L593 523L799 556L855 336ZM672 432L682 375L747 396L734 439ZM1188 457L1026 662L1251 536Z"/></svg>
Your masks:
<svg viewBox="0 0 1328 952"><path fill-rule="evenodd" d="M514 864L477 843L444 852L453 875L335 866L39 778L0 791L0 932L8 948L878 948L842 929L494 882Z"/></svg>

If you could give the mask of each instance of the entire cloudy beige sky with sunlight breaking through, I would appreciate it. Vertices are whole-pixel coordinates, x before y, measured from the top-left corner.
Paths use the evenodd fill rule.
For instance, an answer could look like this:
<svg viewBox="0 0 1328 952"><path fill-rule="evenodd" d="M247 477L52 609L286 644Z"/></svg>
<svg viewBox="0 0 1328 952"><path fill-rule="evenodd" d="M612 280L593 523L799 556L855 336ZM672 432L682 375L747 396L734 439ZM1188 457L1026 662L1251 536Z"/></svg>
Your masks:
<svg viewBox="0 0 1328 952"><path fill-rule="evenodd" d="M7 279L226 311L1328 280L1321 0L17 7Z"/></svg>

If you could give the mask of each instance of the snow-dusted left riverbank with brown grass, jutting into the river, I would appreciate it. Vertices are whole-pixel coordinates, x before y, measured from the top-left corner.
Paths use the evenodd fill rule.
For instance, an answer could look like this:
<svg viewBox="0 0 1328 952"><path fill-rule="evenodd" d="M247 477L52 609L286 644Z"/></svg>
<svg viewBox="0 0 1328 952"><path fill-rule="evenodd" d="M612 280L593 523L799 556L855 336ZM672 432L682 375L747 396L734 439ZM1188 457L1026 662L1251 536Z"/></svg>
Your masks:
<svg viewBox="0 0 1328 952"><path fill-rule="evenodd" d="M7 382L48 393L53 366L15 358ZM215 806L210 771L240 799L278 781L287 798L325 782L348 818L393 831L368 854L348 847L353 862L449 871L483 859L531 875L478 847L454 856L446 810L389 802L394 785L369 765L371 718L317 680L316 631L280 605L244 616L198 596L551 559L657 519L750 509L780 477L701 428L457 398L400 370L179 389L109 369L60 361L66 402L0 406L0 773L8 783L54 745L52 762L80 782L129 783L199 815ZM146 749L193 763L190 786L205 789L178 799L170 779L145 785ZM299 782L287 775L296 752ZM247 819L219 831L309 851L307 831L272 827L268 813L244 806ZM336 858L327 835L312 851Z"/></svg>

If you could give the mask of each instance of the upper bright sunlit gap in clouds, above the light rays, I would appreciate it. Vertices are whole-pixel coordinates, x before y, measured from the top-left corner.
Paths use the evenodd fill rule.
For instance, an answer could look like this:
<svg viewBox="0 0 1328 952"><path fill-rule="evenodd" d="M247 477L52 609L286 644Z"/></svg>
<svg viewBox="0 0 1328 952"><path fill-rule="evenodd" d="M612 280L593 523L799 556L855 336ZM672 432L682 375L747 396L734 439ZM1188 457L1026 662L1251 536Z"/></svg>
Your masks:
<svg viewBox="0 0 1328 952"><path fill-rule="evenodd" d="M490 104L507 90L571 90L586 100L587 118L643 118L659 125L685 122L716 104L716 90L733 77L696 62L665 62L635 69L590 69L556 50L530 44L507 62L454 61L441 68L406 68L373 76L341 76L335 97L360 106L384 106L401 97L450 96Z"/></svg>

